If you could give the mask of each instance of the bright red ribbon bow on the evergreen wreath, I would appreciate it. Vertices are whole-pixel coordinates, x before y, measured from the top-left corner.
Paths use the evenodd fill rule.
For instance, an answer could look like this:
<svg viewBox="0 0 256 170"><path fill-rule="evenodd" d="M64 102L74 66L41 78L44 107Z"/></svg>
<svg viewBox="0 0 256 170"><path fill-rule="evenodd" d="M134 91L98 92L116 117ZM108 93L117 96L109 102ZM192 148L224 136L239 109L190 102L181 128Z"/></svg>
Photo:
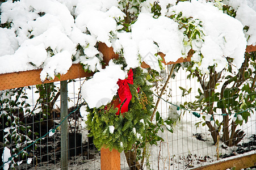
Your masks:
<svg viewBox="0 0 256 170"><path fill-rule="evenodd" d="M119 86L119 89L117 90L119 98L121 100L121 103L117 105L118 111L116 115L119 115L120 113L120 106L123 103L121 107L121 113L127 112L128 111L128 105L132 99L132 94L129 88L129 84L133 84L133 72L132 69L129 70L128 77L124 80L118 80L117 84Z"/></svg>

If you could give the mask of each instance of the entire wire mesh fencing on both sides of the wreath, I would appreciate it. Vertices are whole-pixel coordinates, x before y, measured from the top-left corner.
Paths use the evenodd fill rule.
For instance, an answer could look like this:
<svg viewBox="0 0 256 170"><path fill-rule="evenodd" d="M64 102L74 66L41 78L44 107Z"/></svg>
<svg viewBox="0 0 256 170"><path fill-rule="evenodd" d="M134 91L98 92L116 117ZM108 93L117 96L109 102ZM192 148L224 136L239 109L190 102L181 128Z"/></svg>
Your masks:
<svg viewBox="0 0 256 170"><path fill-rule="evenodd" d="M173 65L166 66L160 80L153 84L155 103L159 100L159 115L156 114L153 122L161 117L170 120L172 125L158 131L161 138L157 145L150 145L149 141L145 151L136 151L137 155L145 153L143 164L141 159L136 162L138 158L131 157L131 152L121 153L121 169L189 169L244 152L255 153L255 101L250 100L255 88L249 91L253 80L247 80L248 89L243 86L243 91L238 87L241 91L237 92L232 91L236 89L233 84L226 86L224 80L205 77L205 82L200 83L196 76L188 79L191 73L178 70L177 66L171 74ZM251 70L255 75L255 70ZM171 78L166 83L169 75ZM232 74L222 76L228 75ZM84 105L80 92L84 80L68 82L69 135L65 141L69 148L68 169L100 169L100 151L93 145L93 138L87 137L89 131L80 110ZM215 84L213 89L212 86L202 88L207 82ZM165 83L167 86L161 95ZM244 105L236 102L240 98ZM59 82L1 91L0 155L7 147L13 156L10 162L1 156L1 162L7 162L14 169L60 169L60 102ZM228 112L221 110L224 105ZM225 129L228 129L227 135Z"/></svg>

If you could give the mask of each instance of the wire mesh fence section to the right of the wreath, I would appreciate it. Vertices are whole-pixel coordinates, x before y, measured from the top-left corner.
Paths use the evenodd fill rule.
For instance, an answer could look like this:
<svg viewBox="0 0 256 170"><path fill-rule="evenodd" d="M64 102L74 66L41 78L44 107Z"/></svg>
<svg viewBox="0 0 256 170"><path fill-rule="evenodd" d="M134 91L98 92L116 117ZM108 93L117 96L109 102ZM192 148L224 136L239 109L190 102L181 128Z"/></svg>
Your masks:
<svg viewBox="0 0 256 170"><path fill-rule="evenodd" d="M162 71L163 80L158 84L158 90L155 87L156 101L170 74L170 67ZM254 100L247 97L255 95L253 80L247 80L250 85L241 85L237 88L244 90L232 94L230 91L236 86L233 83L227 85L226 79L214 82L205 77L204 86L215 84L212 89L207 89L196 76L191 76L190 71L179 70L174 74L158 105L162 118L173 121L173 133L167 130L160 133L163 140L151 147L149 164L153 169L188 169L245 152L255 153L255 105ZM212 75L217 77L217 73ZM234 75L224 73L222 76ZM252 87L251 91L245 92L245 87ZM238 104L238 98L248 101L246 107ZM224 111L224 108L228 109Z"/></svg>

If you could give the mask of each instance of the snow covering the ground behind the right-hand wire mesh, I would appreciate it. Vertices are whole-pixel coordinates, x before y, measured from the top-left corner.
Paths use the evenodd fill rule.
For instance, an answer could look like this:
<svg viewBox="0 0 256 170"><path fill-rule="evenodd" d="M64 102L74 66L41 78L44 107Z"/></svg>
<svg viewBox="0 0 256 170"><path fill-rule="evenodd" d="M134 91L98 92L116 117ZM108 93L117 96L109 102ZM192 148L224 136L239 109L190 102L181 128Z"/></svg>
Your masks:
<svg viewBox="0 0 256 170"><path fill-rule="evenodd" d="M164 105L165 104L162 104L162 106L160 106L159 108L164 110ZM162 113L163 117L165 117L165 115L165 113ZM241 143L247 142L247 137L255 134L255 118L255 114L252 114L251 120L248 122L249 124L245 124L244 127L240 127L244 131L246 131L246 137L244 137ZM164 142L158 143L158 146L152 146L150 148L151 168L184 169L185 166L188 164L199 167L202 165L211 164L211 162L217 163L217 147L213 145L214 142L211 138L211 134L209 133L207 126L200 125L199 128L196 128L195 124L199 121L202 121L202 119L196 118L191 113L186 112L184 115L181 116L181 121L177 121L176 124L173 126L173 133L170 133L167 130L165 130L163 133L158 133L158 135L160 135L164 139ZM202 134L202 137L205 141L199 141L198 139L196 139L195 134ZM232 152L232 149L236 150L236 148L234 147L230 147L225 150L221 147L221 145L224 144L220 141L219 153L221 153L222 155L230 154L230 152ZM249 154L255 154L255 151L241 154L237 157ZM159 158L158 155L160 156ZM192 161L189 159L190 156ZM209 156L209 158L207 158L205 162L200 162L200 158L204 159L204 156ZM228 159L234 159L234 157L232 156ZM158 160L160 162L159 167L157 164ZM224 160L227 159L221 159L221 161Z"/></svg>

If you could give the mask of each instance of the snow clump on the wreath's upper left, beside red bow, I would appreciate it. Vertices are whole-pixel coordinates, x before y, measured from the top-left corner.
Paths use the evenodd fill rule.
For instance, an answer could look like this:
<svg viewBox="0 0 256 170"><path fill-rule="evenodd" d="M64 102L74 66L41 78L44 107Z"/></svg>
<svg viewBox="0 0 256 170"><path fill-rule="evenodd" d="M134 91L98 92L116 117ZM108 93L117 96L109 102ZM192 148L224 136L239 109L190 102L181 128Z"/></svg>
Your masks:
<svg viewBox="0 0 256 170"><path fill-rule="evenodd" d="M106 69L102 69L86 80L82 86L82 97L89 108L99 108L110 103L116 95L119 86L118 79L125 79L127 73L121 70L121 65L115 65L111 60Z"/></svg>

